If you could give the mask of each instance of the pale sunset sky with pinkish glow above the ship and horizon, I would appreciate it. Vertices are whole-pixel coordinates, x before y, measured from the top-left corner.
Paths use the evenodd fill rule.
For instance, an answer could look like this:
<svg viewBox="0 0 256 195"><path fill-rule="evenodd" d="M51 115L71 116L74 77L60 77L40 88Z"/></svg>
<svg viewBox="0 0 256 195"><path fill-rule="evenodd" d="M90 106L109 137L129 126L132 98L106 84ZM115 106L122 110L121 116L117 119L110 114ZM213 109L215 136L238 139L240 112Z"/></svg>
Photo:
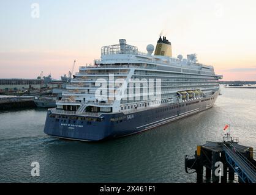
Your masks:
<svg viewBox="0 0 256 195"><path fill-rule="evenodd" d="M104 45L125 38L146 51L162 32L174 57L196 53L223 80L256 80L255 9L247 0L0 0L0 78L60 79L73 60L77 72L99 59Z"/></svg>

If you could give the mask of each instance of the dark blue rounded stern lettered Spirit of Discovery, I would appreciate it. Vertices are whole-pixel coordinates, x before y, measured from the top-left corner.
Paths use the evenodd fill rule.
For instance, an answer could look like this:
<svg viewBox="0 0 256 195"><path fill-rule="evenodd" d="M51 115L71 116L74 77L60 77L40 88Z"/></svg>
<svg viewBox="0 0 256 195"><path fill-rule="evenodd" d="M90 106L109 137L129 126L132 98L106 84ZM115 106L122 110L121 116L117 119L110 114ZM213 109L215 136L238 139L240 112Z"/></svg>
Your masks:
<svg viewBox="0 0 256 195"><path fill-rule="evenodd" d="M100 141L111 135L108 123L104 116L74 116L48 110L44 132L69 140Z"/></svg>

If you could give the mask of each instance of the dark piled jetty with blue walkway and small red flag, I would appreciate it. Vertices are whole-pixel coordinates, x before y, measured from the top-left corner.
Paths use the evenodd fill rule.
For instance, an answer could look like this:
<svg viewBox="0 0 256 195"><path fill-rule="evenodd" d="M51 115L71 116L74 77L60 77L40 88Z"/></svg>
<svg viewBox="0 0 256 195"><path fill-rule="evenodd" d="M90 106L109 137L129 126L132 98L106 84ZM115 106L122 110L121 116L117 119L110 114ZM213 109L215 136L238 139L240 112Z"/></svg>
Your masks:
<svg viewBox="0 0 256 195"><path fill-rule="evenodd" d="M186 172L197 173L197 183L227 183L238 175L239 183L256 183L256 161L252 147L238 144L238 138L224 137L222 142L207 141L197 146L194 156L185 156Z"/></svg>

